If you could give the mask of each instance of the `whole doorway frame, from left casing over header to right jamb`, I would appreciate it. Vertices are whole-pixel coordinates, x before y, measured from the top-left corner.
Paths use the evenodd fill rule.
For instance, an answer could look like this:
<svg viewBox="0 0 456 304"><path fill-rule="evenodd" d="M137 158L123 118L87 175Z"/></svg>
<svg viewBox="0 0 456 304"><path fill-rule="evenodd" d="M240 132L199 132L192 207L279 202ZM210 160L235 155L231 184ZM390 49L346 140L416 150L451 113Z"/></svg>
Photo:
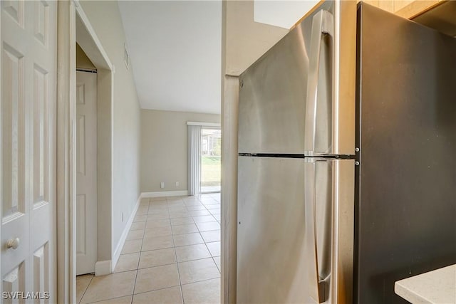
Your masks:
<svg viewBox="0 0 456 304"><path fill-rule="evenodd" d="M104 111L98 113L103 124L97 132L99 138L108 142L97 156L98 160L103 159L98 164L98 176L103 176L103 180L98 179L98 189L101 190L98 191L98 221L103 219L106 226L101 227L105 228L106 237L98 238L99 274L110 273L113 258L114 66L78 1L58 1L57 26L57 302L76 303L76 40L98 68L97 99ZM100 261L100 254L105 261Z"/></svg>

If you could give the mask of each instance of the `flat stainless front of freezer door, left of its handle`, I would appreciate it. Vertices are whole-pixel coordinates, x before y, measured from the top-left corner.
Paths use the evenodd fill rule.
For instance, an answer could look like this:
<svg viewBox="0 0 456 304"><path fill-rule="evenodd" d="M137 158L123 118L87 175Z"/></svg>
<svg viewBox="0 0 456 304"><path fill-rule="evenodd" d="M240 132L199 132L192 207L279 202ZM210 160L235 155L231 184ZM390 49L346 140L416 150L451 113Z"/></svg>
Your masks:
<svg viewBox="0 0 456 304"><path fill-rule="evenodd" d="M304 154L309 59L295 28L239 78L239 153Z"/></svg>

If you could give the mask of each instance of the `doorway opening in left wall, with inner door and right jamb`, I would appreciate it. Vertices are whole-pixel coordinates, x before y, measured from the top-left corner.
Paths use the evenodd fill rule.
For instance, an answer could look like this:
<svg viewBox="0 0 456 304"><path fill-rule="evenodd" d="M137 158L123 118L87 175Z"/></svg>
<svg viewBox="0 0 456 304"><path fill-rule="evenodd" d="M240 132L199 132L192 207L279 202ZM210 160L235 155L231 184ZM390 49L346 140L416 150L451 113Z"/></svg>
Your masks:
<svg viewBox="0 0 456 304"><path fill-rule="evenodd" d="M111 234L113 65L81 6L76 6L75 21L71 43L76 45L72 54L76 63L72 114L76 127L76 223L72 227L76 248L71 262L76 263L74 275L103 276L115 264Z"/></svg>

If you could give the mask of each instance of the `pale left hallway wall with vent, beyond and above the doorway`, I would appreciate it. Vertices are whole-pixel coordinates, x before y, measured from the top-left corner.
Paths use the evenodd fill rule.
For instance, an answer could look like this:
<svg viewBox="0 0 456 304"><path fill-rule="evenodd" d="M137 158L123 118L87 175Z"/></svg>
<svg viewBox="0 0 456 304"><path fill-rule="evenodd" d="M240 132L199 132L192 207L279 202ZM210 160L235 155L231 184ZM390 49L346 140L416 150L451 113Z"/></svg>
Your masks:
<svg viewBox="0 0 456 304"><path fill-rule="evenodd" d="M113 88L113 244L118 245L140 194L140 105L123 61L125 33L117 1L80 1L115 67ZM123 221L122 221L123 214Z"/></svg>

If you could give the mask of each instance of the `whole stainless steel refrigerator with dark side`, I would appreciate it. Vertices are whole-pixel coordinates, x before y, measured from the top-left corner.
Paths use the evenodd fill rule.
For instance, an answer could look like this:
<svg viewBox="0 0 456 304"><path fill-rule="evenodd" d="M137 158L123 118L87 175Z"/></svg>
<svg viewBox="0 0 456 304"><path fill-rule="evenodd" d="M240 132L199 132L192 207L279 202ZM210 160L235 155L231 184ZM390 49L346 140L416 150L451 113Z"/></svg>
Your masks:
<svg viewBox="0 0 456 304"><path fill-rule="evenodd" d="M456 39L323 1L239 78L237 303L407 303L456 263Z"/></svg>

